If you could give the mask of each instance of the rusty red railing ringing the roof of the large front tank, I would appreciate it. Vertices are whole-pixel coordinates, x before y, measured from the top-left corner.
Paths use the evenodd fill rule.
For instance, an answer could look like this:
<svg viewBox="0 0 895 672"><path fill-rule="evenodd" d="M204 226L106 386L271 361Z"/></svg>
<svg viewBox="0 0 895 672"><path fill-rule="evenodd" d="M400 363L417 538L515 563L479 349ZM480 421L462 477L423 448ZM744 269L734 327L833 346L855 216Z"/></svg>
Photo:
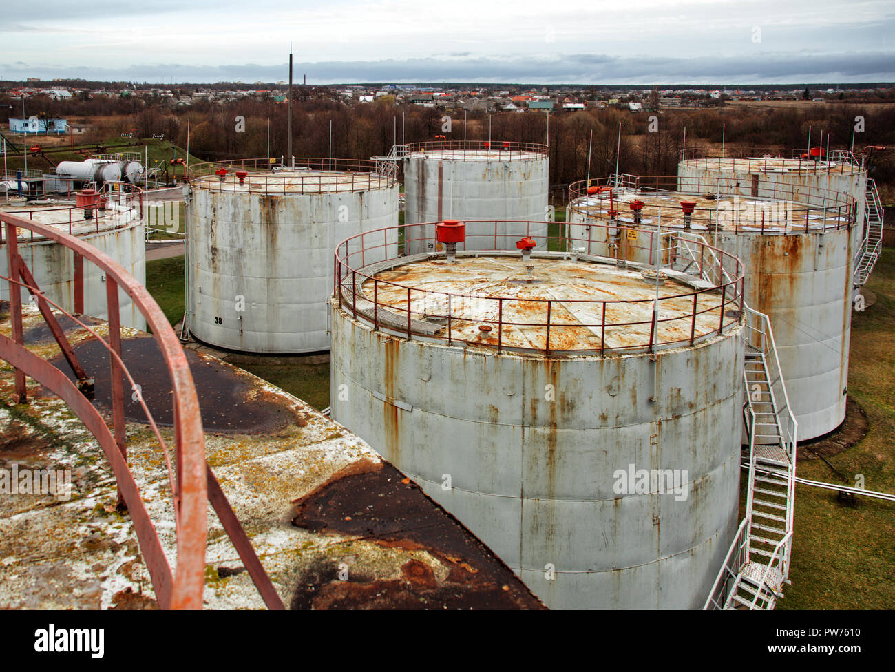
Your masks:
<svg viewBox="0 0 895 672"><path fill-rule="evenodd" d="M464 224L466 229L466 241L457 244L456 249L458 254L465 252L467 247L470 247L469 242L471 241L491 243L490 247L482 245L473 245L470 247L471 250L474 249L479 255L488 255L489 252L517 252L515 245L513 247L506 245L501 247L499 242L506 242L507 240L521 237L529 237L536 243L535 253L539 252L537 250L538 247L541 247L541 250L547 251L550 251L552 248L557 251L555 254L559 257L568 257L570 254L576 254L576 252L573 252L573 250L575 250L575 245L569 243L577 242L582 243L582 247L584 248L584 251L580 252L580 254L584 256L597 256L591 255L591 246L594 242L591 239L570 238L566 234L561 233L557 235L539 233L545 226L544 222L465 220ZM585 351L598 352L601 354L607 352L644 350L653 352L657 346L671 347L686 344L694 345L695 342L704 337L721 334L727 328L736 327L741 320L744 306L743 284L745 275L742 262L728 252L712 247L707 242L699 239L698 236L685 234L683 232L640 232L643 233L644 237L649 241L649 264L634 264L634 266L636 268L655 268L655 259L667 258L668 261L665 264L660 264L658 270L667 270L669 268L673 270L681 270L683 268L684 273L689 273L690 269L693 268L693 272L690 273L691 279L704 279L707 277L713 277L714 279L709 286L692 286L692 291L661 296L658 300L650 298L630 301L595 301L589 299L530 299L510 296L476 296L468 293L451 293L420 289L401 282L384 280L376 275L379 272L378 268L389 266L391 262L400 265L412 260L429 258L430 255L426 253L413 255L411 257L399 255L397 253L399 244L398 234L403 234L403 244L405 245L405 249L410 242L423 243L424 245L428 245L428 243L431 242L434 249L435 243L437 242L437 238L434 235L434 228L436 225L438 225L437 222L430 222L387 227L357 234L340 242L334 255L335 268L333 278L333 293L335 300L338 302L338 308L350 312L354 319L361 318L366 320L374 329L388 330L389 333L405 336L408 339L413 338L414 334L420 336L421 327L426 327L426 323L430 325L431 319L434 317L445 323L445 327L441 329L443 333L431 333L431 330L429 330L429 332L424 334L424 337L445 340L449 345L455 343L483 345L482 341L469 340L464 339L462 336L457 336L453 329L454 321L475 323L480 327L487 327L489 331L496 328L496 340L494 340L493 343L489 341L484 345L493 345L497 348L498 352L507 349L534 351L546 353L548 355L550 355L550 353L580 353ZM626 247L618 247L616 250L619 257L622 254L626 254L629 250L633 251L635 249L641 249L644 251L646 249L646 245L638 246L636 242L629 242L630 236L628 233L637 233L637 230L635 229L610 225L592 225L591 228L592 230L604 229L607 235L615 236L619 241L624 241L622 244L625 244ZM589 229L589 234L590 230L591 229ZM664 246L660 246L660 242L663 238L667 238L668 243L667 245L662 243ZM685 247L686 253L684 252ZM698 258L696 256L697 253ZM712 259L715 260L714 264L712 264ZM617 259L602 260L617 261ZM678 268L675 268L676 264L678 264ZM372 298L368 293L361 292L361 286L366 282L372 283ZM406 307L400 308L393 304L379 301L380 287L397 289L401 293L405 293ZM718 296L719 293L720 297ZM414 297L418 302L422 302L424 305L422 310L418 309L415 311L416 319L413 318ZM674 317L661 317L661 310L665 305L668 305L671 301L680 300L685 297L693 298L692 306L690 306L688 311ZM713 298L715 300L713 300ZM494 309L492 311L497 313L497 319L460 317L456 315L454 307L456 305L461 305L462 302L470 299L482 302L492 302L492 308ZM505 319L505 307L511 306L514 302L540 304L542 306L541 312L546 312L545 321L514 322ZM700 302L702 302L702 305L700 305ZM592 324L585 324L583 322L558 323L556 321L551 321L551 313L555 314L553 306L563 304L599 307L600 310L598 314L601 316L601 320ZM431 306L433 305L439 306L437 310L438 314L434 314L431 311ZM645 308L647 313L652 314L652 317L650 319L633 321L607 320L608 308L611 310L616 308L631 308L634 306ZM716 310L719 313L718 327L713 327L711 331L705 334L697 335L696 319L700 315ZM730 313L730 310L734 310L735 312ZM398 319L395 319L396 317ZM725 321L725 319L727 320ZM689 326L689 337L675 341L661 341L658 339L658 327L661 324L681 320L686 321ZM644 325L650 325L650 335L643 343L624 346L606 345L607 329L638 327ZM541 330L544 345L542 347L508 346L503 340L505 327L535 327L536 329ZM589 329L592 334L600 336L601 345L599 347L594 348L592 345L581 348L560 348L551 346L551 334L556 337L557 333L561 332L563 329L577 329L582 327Z"/></svg>

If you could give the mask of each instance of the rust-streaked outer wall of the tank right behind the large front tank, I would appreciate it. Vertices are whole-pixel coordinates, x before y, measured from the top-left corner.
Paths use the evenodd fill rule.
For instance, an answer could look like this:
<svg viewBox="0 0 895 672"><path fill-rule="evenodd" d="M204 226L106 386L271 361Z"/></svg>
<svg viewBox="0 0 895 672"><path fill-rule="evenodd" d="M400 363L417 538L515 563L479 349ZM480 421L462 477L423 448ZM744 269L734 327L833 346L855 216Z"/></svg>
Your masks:
<svg viewBox="0 0 895 672"><path fill-rule="evenodd" d="M623 206L620 223L633 226L626 209ZM626 259L655 263L655 219L645 208L642 229L632 231L626 241ZM572 244L589 254L615 257L606 230L584 225L584 220L583 208L570 203L567 221L576 239ZM605 224L593 216L590 221ZM746 302L771 319L799 440L831 432L845 419L852 263L857 251L854 231L854 226L826 233L721 231L717 239L707 231L694 231L745 264ZM665 263L669 251L660 251L659 256Z"/></svg>

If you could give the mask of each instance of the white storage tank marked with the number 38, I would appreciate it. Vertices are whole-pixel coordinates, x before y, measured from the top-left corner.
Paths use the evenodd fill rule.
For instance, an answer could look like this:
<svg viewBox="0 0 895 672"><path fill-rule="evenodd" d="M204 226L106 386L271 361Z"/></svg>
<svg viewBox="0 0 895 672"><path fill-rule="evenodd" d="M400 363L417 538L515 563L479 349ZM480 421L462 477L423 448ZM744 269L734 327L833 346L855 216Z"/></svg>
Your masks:
<svg viewBox="0 0 895 672"><path fill-rule="evenodd" d="M191 168L187 324L200 341L230 350L328 350L333 250L345 236L390 227L365 260L396 251L397 181L367 161L267 166Z"/></svg>

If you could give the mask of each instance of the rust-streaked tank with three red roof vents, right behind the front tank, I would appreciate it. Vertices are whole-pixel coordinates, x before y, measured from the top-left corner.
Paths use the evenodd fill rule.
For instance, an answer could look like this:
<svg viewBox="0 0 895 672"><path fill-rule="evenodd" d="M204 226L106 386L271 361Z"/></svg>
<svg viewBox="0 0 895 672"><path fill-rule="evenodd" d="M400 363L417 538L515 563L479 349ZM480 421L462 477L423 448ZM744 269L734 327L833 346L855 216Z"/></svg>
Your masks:
<svg viewBox="0 0 895 672"><path fill-rule="evenodd" d="M693 203L688 230L742 259L746 302L771 319L799 440L839 427L848 387L855 200L848 194L823 191L822 196L804 185L790 189L785 184L759 185L755 197L715 198L711 179L688 179L686 191L656 187L678 183L674 176L638 180L612 190L611 208L609 192L588 194L584 181L573 183L567 244L618 258L618 237L603 233L609 209L614 209L620 225L636 229L621 241L626 244L625 259L654 263L658 257L668 262L678 250L669 245L667 234L685 229L681 202ZM797 202L794 195L825 205ZM632 201L644 203L639 224L630 209ZM601 226L593 228L591 223ZM666 234L659 236L658 244L657 227Z"/></svg>

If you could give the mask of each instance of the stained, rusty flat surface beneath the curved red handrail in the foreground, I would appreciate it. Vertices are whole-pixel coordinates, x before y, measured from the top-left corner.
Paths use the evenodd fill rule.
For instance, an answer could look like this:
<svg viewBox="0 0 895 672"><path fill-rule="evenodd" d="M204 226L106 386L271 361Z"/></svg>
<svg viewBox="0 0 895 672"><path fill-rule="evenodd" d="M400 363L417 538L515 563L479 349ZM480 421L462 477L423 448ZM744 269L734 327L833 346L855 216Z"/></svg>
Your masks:
<svg viewBox="0 0 895 672"><path fill-rule="evenodd" d="M9 336L8 306L0 333ZM59 351L37 310L26 344ZM108 357L63 320L108 416ZM107 325L98 323L98 333ZM169 382L155 341L125 330L124 362L157 421L170 422ZM542 608L516 576L422 490L335 421L261 379L187 351L209 464L271 580L291 608ZM71 492L0 494L0 608L155 608L130 517L97 442L68 407L28 380L13 404L0 362L0 471L71 470ZM175 565L174 510L163 455L130 396L128 463ZM167 409L167 416L165 410ZM163 427L173 446L173 431ZM263 608L209 506L206 608Z"/></svg>

